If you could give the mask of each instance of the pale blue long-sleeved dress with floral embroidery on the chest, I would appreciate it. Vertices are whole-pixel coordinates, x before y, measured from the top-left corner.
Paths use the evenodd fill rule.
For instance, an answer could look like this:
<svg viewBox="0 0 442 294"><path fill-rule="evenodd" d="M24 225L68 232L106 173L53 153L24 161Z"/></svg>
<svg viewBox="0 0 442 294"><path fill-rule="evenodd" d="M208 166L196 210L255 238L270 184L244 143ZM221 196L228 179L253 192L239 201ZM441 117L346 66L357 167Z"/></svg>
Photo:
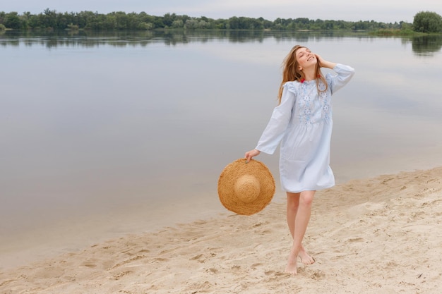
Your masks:
<svg viewBox="0 0 442 294"><path fill-rule="evenodd" d="M350 81L354 69L338 64L333 71L336 74L325 75L326 92L318 92L316 80L286 82L281 103L273 110L256 146L261 152L273 154L280 144L280 179L287 192L335 185L330 169L331 96Z"/></svg>

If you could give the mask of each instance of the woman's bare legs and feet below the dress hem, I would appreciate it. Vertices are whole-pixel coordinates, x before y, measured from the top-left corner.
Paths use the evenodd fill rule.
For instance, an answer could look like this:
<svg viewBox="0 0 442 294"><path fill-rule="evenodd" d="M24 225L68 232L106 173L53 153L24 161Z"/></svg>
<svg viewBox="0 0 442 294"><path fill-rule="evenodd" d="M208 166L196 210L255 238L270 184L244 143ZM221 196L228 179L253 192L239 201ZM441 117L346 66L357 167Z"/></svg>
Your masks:
<svg viewBox="0 0 442 294"><path fill-rule="evenodd" d="M297 257L304 264L312 264L314 259L302 246L302 240L306 233L307 225L311 216L311 203L316 191L303 191L299 193L287 192L287 224L293 237L293 245L290 250L287 271L297 274Z"/></svg>

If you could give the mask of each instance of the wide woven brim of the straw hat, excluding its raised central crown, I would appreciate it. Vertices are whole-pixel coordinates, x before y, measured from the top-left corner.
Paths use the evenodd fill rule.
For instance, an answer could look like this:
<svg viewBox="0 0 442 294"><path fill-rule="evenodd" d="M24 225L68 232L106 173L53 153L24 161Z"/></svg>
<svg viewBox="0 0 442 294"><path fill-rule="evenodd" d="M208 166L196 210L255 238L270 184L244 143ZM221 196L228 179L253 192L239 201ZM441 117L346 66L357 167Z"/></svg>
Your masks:
<svg viewBox="0 0 442 294"><path fill-rule="evenodd" d="M242 201L234 192L236 180L244 175L254 176L260 185L260 192L251 202ZM251 215L261 212L275 195L275 180L270 170L261 161L237 159L228 164L218 179L218 196L222 205L231 212Z"/></svg>

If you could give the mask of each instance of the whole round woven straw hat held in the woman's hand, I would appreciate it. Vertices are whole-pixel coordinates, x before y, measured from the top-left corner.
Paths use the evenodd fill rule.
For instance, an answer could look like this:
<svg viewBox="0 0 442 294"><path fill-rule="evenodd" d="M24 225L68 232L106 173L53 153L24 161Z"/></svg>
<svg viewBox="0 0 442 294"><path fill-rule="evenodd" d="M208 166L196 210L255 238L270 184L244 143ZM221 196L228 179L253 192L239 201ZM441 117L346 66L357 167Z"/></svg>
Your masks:
<svg viewBox="0 0 442 294"><path fill-rule="evenodd" d="M237 214L261 212L275 195L275 180L261 161L237 159L228 164L218 180L218 195L225 208Z"/></svg>

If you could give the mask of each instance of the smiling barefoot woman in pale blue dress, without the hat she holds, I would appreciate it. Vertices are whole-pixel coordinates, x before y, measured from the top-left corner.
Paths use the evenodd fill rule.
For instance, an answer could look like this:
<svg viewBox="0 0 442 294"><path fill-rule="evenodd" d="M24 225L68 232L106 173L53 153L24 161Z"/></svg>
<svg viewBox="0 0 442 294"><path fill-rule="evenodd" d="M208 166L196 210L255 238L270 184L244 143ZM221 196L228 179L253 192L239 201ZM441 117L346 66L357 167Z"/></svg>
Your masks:
<svg viewBox="0 0 442 294"><path fill-rule="evenodd" d="M325 77L321 68L335 75ZM287 224L293 245L285 271L297 274L297 257L304 264L315 260L302 246L316 190L335 185L330 169L332 133L331 95L347 84L354 69L325 61L308 48L295 46L283 63L279 105L255 149L246 152L246 162L261 152L273 154L280 145L280 178L287 191Z"/></svg>

